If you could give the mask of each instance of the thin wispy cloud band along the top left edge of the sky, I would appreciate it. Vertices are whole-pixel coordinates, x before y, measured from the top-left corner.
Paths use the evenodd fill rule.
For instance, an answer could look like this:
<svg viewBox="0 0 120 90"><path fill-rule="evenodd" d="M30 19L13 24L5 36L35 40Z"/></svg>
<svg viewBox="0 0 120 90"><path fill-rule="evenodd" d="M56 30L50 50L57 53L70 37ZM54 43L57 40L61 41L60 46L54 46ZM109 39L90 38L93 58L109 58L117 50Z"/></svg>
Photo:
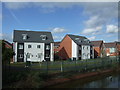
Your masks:
<svg viewBox="0 0 120 90"><path fill-rule="evenodd" d="M56 8L71 8L78 3L66 2L4 2L9 9L23 9L26 7L41 7L42 9L55 10Z"/></svg>

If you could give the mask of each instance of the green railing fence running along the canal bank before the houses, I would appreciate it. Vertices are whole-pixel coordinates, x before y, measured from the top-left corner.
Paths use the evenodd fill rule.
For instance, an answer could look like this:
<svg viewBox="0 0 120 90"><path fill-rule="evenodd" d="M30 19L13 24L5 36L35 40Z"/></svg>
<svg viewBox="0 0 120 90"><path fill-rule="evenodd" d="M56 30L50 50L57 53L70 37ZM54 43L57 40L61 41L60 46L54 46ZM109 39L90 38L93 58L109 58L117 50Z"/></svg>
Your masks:
<svg viewBox="0 0 120 90"><path fill-rule="evenodd" d="M88 60L76 61L54 61L54 62L41 62L32 63L31 69L39 70L43 73L60 73L68 71L96 71L98 69L106 69L116 67L119 63L118 57L105 57Z"/></svg>

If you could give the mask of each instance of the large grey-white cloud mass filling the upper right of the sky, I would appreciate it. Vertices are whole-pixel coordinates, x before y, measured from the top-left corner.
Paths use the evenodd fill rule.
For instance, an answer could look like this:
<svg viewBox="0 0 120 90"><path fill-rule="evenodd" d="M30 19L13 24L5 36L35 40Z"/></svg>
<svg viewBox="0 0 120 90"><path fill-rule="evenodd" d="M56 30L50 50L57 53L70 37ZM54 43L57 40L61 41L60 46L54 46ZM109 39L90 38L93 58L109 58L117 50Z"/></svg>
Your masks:
<svg viewBox="0 0 120 90"><path fill-rule="evenodd" d="M95 35L102 32L102 27L112 21L118 20L118 3L117 2L90 2L83 3L83 15L88 16L84 21L85 29L83 34ZM112 13L111 13L112 11ZM99 28L98 28L99 27Z"/></svg>

